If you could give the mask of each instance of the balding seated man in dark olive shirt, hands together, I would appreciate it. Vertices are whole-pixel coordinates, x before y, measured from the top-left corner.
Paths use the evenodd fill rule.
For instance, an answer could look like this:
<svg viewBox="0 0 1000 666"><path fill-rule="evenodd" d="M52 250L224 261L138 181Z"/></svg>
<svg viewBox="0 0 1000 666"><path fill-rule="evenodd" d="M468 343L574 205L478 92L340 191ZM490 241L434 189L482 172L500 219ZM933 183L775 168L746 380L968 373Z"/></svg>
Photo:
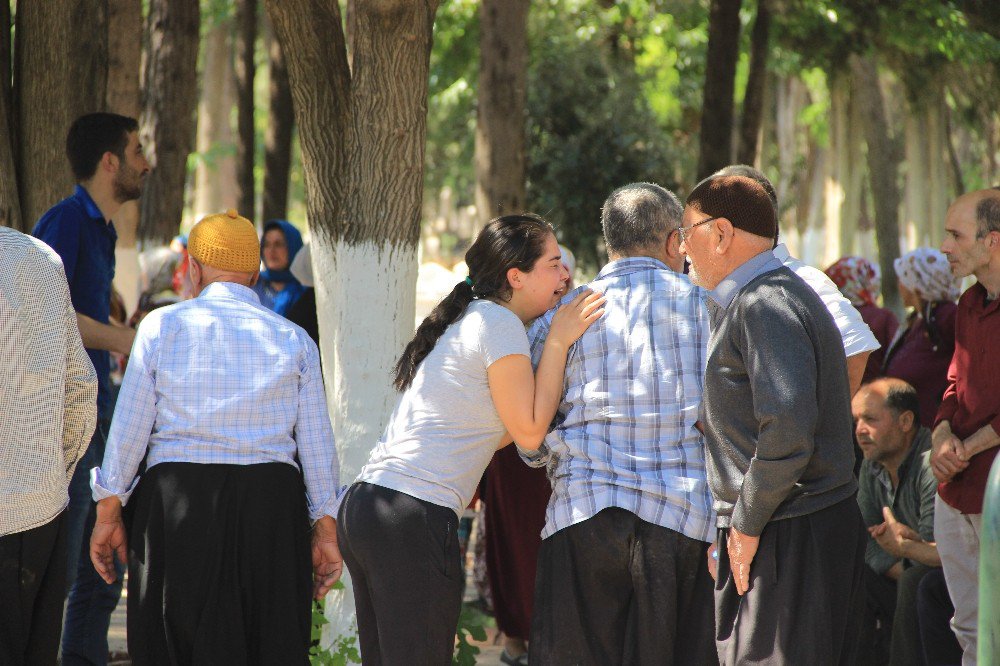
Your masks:
<svg viewBox="0 0 1000 666"><path fill-rule="evenodd" d="M931 434L920 426L916 390L901 379L862 386L851 408L865 456L858 504L871 533L862 634L868 649L859 653L870 655L873 663L889 657L891 664L919 664L917 586L931 567L941 566L934 543L937 480L929 463Z"/></svg>

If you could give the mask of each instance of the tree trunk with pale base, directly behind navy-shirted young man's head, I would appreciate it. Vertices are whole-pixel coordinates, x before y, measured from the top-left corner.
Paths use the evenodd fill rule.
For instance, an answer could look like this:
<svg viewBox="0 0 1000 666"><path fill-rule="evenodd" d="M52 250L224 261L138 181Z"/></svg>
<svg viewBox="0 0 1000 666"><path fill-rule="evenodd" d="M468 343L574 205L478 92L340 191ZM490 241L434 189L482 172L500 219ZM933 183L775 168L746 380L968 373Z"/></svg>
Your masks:
<svg viewBox="0 0 1000 666"><path fill-rule="evenodd" d="M3 0L0 0L2 2ZM142 61L142 0L108 0L107 109L130 118L141 113L139 75ZM129 313L139 303L139 202L129 201L115 214L115 288Z"/></svg>

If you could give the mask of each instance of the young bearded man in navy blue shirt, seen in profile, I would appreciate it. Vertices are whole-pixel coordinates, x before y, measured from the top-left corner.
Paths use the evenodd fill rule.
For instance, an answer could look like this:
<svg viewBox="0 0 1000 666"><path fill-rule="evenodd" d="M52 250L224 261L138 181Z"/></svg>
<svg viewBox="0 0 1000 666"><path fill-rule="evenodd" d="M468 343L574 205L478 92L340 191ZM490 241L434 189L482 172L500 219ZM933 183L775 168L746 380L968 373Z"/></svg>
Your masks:
<svg viewBox="0 0 1000 666"><path fill-rule="evenodd" d="M121 583L104 583L86 554L95 515L89 474L104 456L111 420L109 352L127 355L135 338L132 329L109 323L118 238L111 220L122 204L139 198L150 167L139 143L139 124L113 113L77 118L66 137L66 155L77 180L76 190L42 215L32 235L62 259L80 335L97 371L98 425L69 488L69 600L62 663L105 664L108 625L121 596Z"/></svg>

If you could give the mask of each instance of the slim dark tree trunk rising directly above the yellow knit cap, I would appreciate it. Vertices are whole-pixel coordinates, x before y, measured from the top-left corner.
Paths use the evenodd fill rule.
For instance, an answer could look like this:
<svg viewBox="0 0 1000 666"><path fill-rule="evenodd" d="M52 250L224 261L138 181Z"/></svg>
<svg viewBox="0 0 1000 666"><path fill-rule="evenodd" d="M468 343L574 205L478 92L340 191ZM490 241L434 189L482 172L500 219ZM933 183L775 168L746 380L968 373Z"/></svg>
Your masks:
<svg viewBox="0 0 1000 666"><path fill-rule="evenodd" d="M257 45L257 0L236 3L236 173L239 210L256 220L254 157L257 144L254 127L253 80L256 74L254 49Z"/></svg>

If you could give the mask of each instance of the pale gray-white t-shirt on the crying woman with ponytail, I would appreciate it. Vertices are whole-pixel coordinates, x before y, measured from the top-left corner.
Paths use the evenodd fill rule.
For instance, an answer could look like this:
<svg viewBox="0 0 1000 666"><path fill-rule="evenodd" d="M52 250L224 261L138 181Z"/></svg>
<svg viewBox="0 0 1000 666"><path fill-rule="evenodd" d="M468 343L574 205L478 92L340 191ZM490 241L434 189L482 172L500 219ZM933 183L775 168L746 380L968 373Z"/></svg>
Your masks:
<svg viewBox="0 0 1000 666"><path fill-rule="evenodd" d="M486 369L511 354L531 358L517 315L491 301L470 303L417 367L358 481L461 515L505 430Z"/></svg>

